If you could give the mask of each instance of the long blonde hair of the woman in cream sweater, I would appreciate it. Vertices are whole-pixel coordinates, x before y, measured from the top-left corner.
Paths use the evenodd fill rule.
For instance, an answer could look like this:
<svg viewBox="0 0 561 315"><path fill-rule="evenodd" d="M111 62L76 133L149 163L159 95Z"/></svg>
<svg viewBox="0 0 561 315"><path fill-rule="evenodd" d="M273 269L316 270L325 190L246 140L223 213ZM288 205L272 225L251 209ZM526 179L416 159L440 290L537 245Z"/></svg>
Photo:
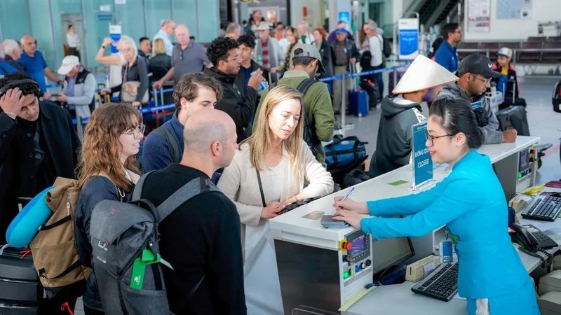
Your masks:
<svg viewBox="0 0 561 315"><path fill-rule="evenodd" d="M255 132L240 144L240 148L246 142L250 144L250 162L252 167L259 171L266 167L265 156L269 149L271 149L272 132L269 128L269 115L280 102L288 99L296 99L300 103L300 119L298 120L296 130L290 134L288 139L283 141L290 158L292 173L298 174L299 158L300 153L302 153L302 141L304 139L304 106L302 104L302 94L294 87L288 85L278 85L269 91L259 111Z"/></svg>

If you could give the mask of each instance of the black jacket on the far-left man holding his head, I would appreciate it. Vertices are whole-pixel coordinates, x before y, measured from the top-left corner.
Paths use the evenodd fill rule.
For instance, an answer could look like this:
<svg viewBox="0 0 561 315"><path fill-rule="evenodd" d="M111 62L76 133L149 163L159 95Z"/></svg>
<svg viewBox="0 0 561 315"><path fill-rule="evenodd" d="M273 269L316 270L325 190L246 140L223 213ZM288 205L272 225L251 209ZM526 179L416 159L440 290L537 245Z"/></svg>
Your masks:
<svg viewBox="0 0 561 315"><path fill-rule="evenodd" d="M37 121L55 176L74 179L81 144L69 113L41 102ZM0 244L6 244L6 230L18 214L18 197L34 197L48 187L37 187L34 132L25 125L25 120L13 120L0 109Z"/></svg>

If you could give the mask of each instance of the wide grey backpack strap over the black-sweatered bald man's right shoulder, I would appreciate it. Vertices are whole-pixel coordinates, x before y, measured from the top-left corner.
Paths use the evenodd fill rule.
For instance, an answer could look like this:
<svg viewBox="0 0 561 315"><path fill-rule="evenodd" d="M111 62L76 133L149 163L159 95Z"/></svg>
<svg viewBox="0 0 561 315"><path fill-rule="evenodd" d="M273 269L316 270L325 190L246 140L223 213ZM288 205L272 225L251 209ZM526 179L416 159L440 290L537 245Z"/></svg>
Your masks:
<svg viewBox="0 0 561 315"><path fill-rule="evenodd" d="M164 200L158 207L156 207L156 214L158 216L158 223L163 221L175 209L180 207L191 198L208 193L210 191L220 191L210 179L198 177L186 183L182 188L178 189L168 199Z"/></svg>

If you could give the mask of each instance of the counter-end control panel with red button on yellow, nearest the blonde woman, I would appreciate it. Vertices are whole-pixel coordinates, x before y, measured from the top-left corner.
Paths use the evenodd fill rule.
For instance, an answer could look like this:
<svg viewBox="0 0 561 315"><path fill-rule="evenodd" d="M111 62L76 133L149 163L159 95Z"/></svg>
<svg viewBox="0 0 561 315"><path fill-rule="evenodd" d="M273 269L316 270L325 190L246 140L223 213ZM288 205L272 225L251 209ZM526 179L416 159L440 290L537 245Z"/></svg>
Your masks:
<svg viewBox="0 0 561 315"><path fill-rule="evenodd" d="M358 230L346 236L339 244L342 249L341 275L344 286L372 270L370 235ZM372 279L370 279L372 281Z"/></svg>

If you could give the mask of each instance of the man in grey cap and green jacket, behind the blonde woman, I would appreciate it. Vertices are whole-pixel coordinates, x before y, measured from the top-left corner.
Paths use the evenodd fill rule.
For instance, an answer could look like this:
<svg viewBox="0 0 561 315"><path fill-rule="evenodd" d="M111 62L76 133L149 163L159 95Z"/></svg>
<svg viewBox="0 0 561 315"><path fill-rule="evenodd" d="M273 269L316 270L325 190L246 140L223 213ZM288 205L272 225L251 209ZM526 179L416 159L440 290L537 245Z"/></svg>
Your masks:
<svg viewBox="0 0 561 315"><path fill-rule="evenodd" d="M300 92L304 92L304 111L308 118L308 124L304 125L304 138L306 138L304 140L306 140L308 146L313 148L312 152L317 152L315 154L316 160L325 167L325 151L323 151L321 141L327 142L333 139L335 117L327 85L318 80L313 80L316 77L316 73L323 71L321 55L318 49L310 44L299 45L294 50L292 69L286 71L283 78L280 78L277 83L271 83L271 86L263 90L261 102L259 102L255 113L253 132L255 132L255 127L257 126L263 100L266 94L269 93L269 90L277 85L294 87ZM304 86L308 86L306 91L304 91ZM306 128L309 129L308 134L310 134L310 137L306 137Z"/></svg>

